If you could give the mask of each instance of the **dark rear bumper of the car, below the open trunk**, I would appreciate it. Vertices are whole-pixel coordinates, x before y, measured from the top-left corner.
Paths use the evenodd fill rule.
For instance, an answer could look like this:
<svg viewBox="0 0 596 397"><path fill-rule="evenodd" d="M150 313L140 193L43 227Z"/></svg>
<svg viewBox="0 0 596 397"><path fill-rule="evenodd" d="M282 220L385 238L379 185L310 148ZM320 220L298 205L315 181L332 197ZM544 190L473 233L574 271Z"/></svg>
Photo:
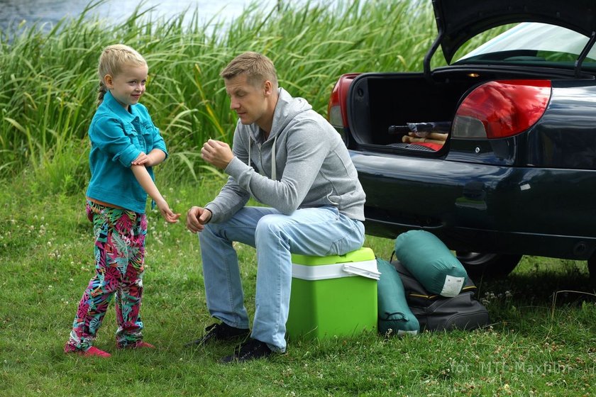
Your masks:
<svg viewBox="0 0 596 397"><path fill-rule="evenodd" d="M351 152L366 233L435 233L452 250L587 259L596 251L596 172Z"/></svg>

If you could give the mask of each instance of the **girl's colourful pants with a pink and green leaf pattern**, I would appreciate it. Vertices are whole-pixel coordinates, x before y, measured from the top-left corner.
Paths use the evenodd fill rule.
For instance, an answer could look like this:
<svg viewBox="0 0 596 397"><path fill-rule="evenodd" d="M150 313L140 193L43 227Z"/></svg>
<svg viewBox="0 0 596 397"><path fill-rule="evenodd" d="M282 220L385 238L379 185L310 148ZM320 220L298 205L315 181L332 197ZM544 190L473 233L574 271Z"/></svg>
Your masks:
<svg viewBox="0 0 596 397"><path fill-rule="evenodd" d="M79 302L65 352L87 350L92 345L114 294L118 347L143 339L139 309L147 217L87 201L87 218L95 235L95 275Z"/></svg>

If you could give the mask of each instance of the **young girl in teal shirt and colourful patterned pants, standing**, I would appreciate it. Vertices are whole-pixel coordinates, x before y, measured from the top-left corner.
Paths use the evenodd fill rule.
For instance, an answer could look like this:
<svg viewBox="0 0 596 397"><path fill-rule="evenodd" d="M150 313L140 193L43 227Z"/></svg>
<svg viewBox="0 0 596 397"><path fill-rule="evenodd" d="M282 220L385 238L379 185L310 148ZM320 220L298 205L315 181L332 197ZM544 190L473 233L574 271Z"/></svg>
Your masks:
<svg viewBox="0 0 596 397"><path fill-rule="evenodd" d="M99 57L99 106L89 127L91 181L87 218L95 235L95 275L84 291L65 352L110 357L92 346L116 295L116 347L149 347L139 309L143 294L147 194L169 223L177 222L153 182L154 165L167 157L165 142L147 108L148 67L126 45L110 45Z"/></svg>

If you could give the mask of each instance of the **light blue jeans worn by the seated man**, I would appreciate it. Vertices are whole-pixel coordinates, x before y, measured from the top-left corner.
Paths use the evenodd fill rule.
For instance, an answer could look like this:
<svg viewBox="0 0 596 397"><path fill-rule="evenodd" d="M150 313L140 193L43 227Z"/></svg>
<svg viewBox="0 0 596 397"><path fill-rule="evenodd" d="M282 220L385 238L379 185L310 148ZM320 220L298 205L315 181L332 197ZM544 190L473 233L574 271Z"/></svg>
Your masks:
<svg viewBox="0 0 596 397"><path fill-rule="evenodd" d="M292 285L292 253L343 255L364 242L364 225L331 206L283 215L275 208L244 207L230 220L208 223L199 233L209 313L236 328L248 328L248 314L232 242L256 248L257 286L251 337L285 352L285 324Z"/></svg>

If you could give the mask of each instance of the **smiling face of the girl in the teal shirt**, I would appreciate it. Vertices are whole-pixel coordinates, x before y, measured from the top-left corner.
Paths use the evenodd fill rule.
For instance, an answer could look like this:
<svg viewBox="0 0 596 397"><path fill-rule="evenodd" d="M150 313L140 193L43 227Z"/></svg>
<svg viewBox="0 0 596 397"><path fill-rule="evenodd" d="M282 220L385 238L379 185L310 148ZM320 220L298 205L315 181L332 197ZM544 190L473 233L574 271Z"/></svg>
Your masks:
<svg viewBox="0 0 596 397"><path fill-rule="evenodd" d="M147 74L146 65L124 65L121 72L115 76L106 74L104 81L116 101L128 110L128 106L137 104L145 92Z"/></svg>

